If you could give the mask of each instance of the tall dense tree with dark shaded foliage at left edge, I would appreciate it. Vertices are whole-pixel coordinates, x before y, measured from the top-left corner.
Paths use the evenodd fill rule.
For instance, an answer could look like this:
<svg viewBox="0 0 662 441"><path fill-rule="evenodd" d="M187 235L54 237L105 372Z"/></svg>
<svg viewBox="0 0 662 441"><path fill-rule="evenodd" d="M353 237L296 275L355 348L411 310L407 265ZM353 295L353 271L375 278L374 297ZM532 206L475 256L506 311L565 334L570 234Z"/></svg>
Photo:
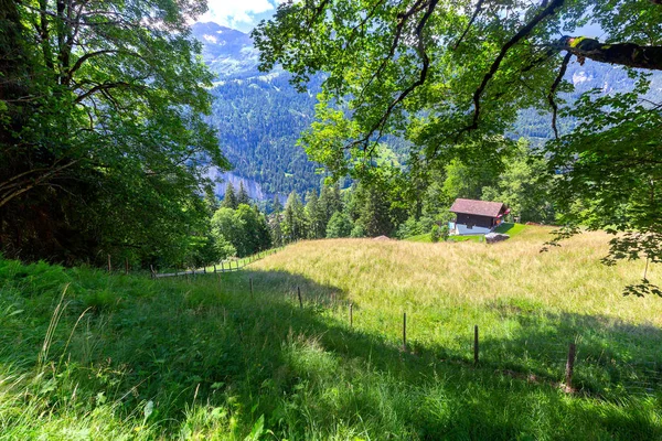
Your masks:
<svg viewBox="0 0 662 441"><path fill-rule="evenodd" d="M227 168L200 43L204 1L0 0L0 247L76 261L180 254Z"/></svg>

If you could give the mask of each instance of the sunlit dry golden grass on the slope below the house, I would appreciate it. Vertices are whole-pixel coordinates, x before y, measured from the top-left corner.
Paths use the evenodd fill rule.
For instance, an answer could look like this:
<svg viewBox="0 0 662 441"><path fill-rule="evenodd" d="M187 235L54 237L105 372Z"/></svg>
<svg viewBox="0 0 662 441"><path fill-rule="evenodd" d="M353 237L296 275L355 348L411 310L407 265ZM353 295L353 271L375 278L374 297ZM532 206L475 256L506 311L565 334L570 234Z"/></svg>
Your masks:
<svg viewBox="0 0 662 441"><path fill-rule="evenodd" d="M548 228L527 227L494 245L420 244L398 240L329 239L302 241L256 263L342 291L364 310L416 313L429 308L525 299L554 313L599 315L631 324L662 327L662 299L623 297L627 284L643 273L642 261L608 267L609 236L587 233L541 252ZM662 282L659 266L649 280ZM479 318L477 318L479 319Z"/></svg>

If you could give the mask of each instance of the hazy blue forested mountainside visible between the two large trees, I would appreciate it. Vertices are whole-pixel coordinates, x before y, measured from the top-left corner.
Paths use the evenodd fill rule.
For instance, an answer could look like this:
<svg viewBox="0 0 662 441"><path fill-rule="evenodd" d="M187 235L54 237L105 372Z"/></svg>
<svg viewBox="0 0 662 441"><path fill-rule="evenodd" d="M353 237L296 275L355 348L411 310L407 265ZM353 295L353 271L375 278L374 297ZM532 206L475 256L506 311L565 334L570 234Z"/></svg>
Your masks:
<svg viewBox="0 0 662 441"><path fill-rule="evenodd" d="M231 173L212 171L223 181L216 193L223 195L227 182L236 187L239 181L256 200L318 187L319 165L309 162L296 143L314 116L320 79L313 78L310 92L300 94L282 69L268 74L257 69L258 52L247 34L195 23L193 35L203 43L203 60L216 74L209 122L234 165Z"/></svg>

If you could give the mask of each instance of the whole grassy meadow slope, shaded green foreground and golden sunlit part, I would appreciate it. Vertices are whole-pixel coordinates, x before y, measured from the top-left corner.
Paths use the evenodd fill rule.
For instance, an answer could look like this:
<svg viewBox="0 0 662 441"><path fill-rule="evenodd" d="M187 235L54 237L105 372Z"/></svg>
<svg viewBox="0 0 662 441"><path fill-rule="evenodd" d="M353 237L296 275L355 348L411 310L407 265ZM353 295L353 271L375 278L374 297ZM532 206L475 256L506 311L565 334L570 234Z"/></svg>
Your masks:
<svg viewBox="0 0 662 441"><path fill-rule="evenodd" d="M662 439L662 299L621 295L642 262L547 233L302 241L189 281L0 260L0 440Z"/></svg>

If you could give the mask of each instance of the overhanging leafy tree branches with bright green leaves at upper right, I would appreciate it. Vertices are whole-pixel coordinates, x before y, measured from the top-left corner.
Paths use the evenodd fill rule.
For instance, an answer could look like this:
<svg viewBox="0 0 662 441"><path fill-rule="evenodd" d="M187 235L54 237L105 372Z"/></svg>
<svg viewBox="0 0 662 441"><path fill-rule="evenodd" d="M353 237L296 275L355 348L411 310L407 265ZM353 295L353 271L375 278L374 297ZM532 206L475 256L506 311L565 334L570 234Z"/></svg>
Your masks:
<svg viewBox="0 0 662 441"><path fill-rule="evenodd" d="M600 40L581 35L599 29ZM525 108L547 111L555 140L553 194L568 225L629 232L615 258L662 260L662 104L642 71L631 93L587 93L576 108L559 94L569 63L662 69L658 0L308 0L282 4L254 32L261 67L276 63L305 86L323 72L318 120L303 137L312 160L361 174L380 140L410 141L417 166L452 158L496 161L490 140ZM569 115L579 123L562 132Z"/></svg>

